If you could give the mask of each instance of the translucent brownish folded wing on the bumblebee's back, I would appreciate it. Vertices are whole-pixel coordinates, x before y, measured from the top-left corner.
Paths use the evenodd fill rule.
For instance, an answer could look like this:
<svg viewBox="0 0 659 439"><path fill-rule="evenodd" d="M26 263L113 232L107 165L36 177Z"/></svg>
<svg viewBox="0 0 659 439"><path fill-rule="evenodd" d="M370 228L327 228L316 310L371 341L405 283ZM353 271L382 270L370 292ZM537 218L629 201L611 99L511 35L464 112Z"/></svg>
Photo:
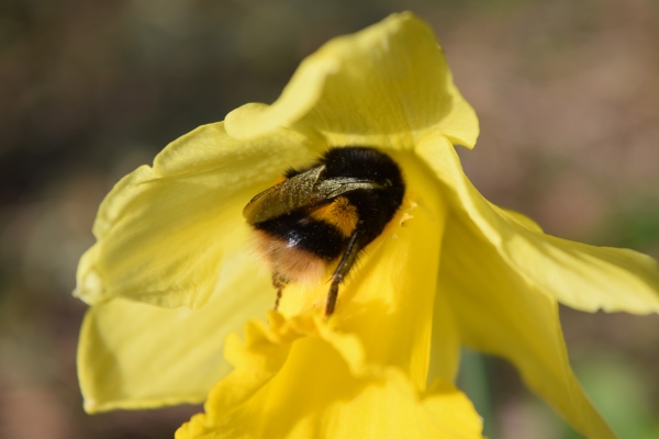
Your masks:
<svg viewBox="0 0 659 439"><path fill-rule="evenodd" d="M287 214L295 209L313 206L358 189L375 189L378 184L349 177L322 179L325 167L310 169L291 177L256 195L243 210L249 224Z"/></svg>

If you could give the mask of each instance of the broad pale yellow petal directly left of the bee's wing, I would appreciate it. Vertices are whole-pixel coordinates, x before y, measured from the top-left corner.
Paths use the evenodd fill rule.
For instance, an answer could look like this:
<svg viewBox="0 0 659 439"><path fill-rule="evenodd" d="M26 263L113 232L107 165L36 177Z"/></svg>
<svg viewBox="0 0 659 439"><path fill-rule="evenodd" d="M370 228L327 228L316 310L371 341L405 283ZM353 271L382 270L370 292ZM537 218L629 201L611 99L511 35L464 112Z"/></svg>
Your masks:
<svg viewBox="0 0 659 439"><path fill-rule="evenodd" d="M101 204L98 241L80 261L75 294L90 304L127 297L201 306L247 243L245 204L313 157L306 138L287 130L235 140L216 123L175 140Z"/></svg>

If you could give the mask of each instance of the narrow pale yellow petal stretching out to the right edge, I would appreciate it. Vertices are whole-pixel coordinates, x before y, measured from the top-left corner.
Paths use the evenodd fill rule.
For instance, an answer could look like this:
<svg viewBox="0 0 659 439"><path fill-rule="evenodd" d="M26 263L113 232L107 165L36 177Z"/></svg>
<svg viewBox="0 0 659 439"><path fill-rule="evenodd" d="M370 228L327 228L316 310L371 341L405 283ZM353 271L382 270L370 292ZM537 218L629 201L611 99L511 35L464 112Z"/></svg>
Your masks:
<svg viewBox="0 0 659 439"><path fill-rule="evenodd" d="M456 215L472 225L474 241L484 237L505 262L501 269L527 288L581 311L659 312L659 269L652 258L545 235L528 218L492 205L465 177L455 149L442 137L427 139L417 153L439 178Z"/></svg>

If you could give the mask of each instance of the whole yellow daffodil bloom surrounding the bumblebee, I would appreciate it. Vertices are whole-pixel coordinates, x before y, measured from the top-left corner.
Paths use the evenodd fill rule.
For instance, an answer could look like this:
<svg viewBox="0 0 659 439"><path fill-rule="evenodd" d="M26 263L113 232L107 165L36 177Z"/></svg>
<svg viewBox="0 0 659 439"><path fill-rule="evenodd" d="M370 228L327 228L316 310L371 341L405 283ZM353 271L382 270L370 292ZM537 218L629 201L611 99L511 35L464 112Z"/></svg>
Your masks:
<svg viewBox="0 0 659 439"><path fill-rule="evenodd" d="M572 374L558 302L659 312L657 263L545 235L489 203L454 149L477 136L433 32L403 13L327 43L273 104L167 146L103 201L80 261L86 409L205 399L181 439L478 438L449 384L467 346L512 362L587 437L614 437ZM348 145L401 166L402 207L328 320L326 284L291 284L268 324L253 320L275 292L243 207L287 168Z"/></svg>

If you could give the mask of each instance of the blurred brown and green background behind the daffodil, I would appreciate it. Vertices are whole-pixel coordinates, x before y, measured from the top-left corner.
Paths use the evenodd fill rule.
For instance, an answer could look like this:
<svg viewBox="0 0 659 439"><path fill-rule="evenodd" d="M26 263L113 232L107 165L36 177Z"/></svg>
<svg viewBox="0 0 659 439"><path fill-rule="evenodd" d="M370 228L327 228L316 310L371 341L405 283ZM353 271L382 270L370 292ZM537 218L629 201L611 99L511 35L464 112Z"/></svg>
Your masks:
<svg viewBox="0 0 659 439"><path fill-rule="evenodd" d="M70 296L96 210L198 125L271 102L328 38L410 9L482 127L490 200L550 234L659 257L659 2L0 2L0 437L164 438L200 407L82 412ZM622 438L659 438L659 317L561 309L572 364ZM579 438L506 363L465 352L491 438Z"/></svg>

